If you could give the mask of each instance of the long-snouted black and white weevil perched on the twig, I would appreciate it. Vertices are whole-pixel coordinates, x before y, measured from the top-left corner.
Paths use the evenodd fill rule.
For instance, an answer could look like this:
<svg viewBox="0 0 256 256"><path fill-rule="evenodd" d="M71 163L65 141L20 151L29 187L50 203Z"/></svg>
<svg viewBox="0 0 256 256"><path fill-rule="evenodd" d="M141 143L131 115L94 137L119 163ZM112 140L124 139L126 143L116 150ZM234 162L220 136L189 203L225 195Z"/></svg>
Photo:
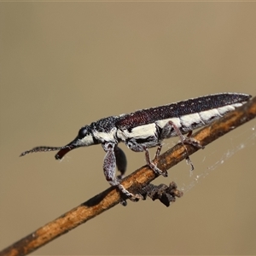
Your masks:
<svg viewBox="0 0 256 256"><path fill-rule="evenodd" d="M148 148L158 147L157 157L160 154L162 141L177 136L181 138L182 143L202 148L199 142L190 137L184 137L183 134L189 133L190 135L193 130L211 124L225 113L240 107L250 97L250 95L242 93L218 93L160 107L137 110L133 113L109 116L90 125L84 125L79 130L78 136L64 147L40 146L27 150L20 156L32 152L59 150L55 154L55 159L61 160L67 152L74 148L101 144L106 152L103 160L103 172L108 183L117 186L121 193L131 201L137 201L141 196L133 195L120 183L126 170L126 157L124 151L118 147L118 143L125 143L135 152L144 151L148 166L156 174L167 176L166 171L161 171L153 160L150 160ZM187 159L189 160L189 156ZM191 162L190 164L192 166ZM121 173L119 177L115 177L116 166Z"/></svg>

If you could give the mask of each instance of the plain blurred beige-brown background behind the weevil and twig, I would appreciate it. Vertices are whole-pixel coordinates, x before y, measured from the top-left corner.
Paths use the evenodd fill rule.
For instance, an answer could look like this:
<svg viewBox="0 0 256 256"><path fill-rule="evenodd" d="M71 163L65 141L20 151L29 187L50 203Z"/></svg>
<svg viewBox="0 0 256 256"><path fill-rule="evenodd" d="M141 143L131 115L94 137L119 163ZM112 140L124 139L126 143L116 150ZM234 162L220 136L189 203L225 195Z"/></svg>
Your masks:
<svg viewBox="0 0 256 256"><path fill-rule="evenodd" d="M216 92L255 96L255 10L255 3L1 3L0 249L108 188L101 146L61 163L55 153L19 158L22 151L65 145L108 115ZM255 254L255 125L193 155L192 177L182 162L155 180L186 192L171 207L128 202L33 254ZM122 148L127 173L145 164L144 154Z"/></svg>

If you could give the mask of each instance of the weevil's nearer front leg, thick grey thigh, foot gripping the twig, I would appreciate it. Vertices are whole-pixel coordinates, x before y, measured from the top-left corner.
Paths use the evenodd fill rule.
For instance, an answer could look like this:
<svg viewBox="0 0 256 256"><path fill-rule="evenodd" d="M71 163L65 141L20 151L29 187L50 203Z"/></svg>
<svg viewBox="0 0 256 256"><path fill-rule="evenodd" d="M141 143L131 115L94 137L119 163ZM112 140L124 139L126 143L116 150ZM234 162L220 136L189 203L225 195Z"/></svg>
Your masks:
<svg viewBox="0 0 256 256"><path fill-rule="evenodd" d="M106 155L103 162L103 171L108 183L112 186L117 186L121 193L126 195L131 201L138 201L142 196L133 195L125 187L119 183L119 179L115 177L115 166L116 158L114 148L116 147L115 143L103 143L102 148L105 150Z"/></svg>

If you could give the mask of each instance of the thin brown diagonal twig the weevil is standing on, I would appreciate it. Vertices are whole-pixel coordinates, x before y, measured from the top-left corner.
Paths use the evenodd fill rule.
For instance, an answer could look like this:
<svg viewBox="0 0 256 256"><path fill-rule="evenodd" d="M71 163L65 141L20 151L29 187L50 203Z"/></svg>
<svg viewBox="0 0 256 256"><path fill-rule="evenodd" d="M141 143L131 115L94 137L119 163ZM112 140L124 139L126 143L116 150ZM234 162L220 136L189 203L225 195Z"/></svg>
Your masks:
<svg viewBox="0 0 256 256"><path fill-rule="evenodd" d="M255 116L256 97L254 97L252 101L247 102L247 104L243 105L241 108L237 108L235 111L228 113L224 118L218 119L218 121L214 122L212 125L196 132L193 137L198 140L202 146L206 146L218 137L223 136L227 132L232 131L236 127L255 118ZM191 145L186 145L186 148L182 144L178 143L175 147L160 155L156 160L157 166L161 170L168 170L186 158L188 154L193 154L198 150L198 148ZM143 187L153 181L156 177L157 176L154 172L151 169L148 169L148 166L143 166L128 177L125 177L122 184L131 192L142 191ZM119 191L111 187L99 195L94 196L89 201L85 201L79 207L75 207L73 210L63 214L59 218L56 218L54 221L45 224L32 234L15 242L10 247L5 248L0 252L0 256L26 255L28 253L32 253L49 241L54 240L56 237L67 233L69 230L73 230L79 226L79 224L83 224L90 218L94 218L96 215L114 207L119 204L119 201Z"/></svg>

